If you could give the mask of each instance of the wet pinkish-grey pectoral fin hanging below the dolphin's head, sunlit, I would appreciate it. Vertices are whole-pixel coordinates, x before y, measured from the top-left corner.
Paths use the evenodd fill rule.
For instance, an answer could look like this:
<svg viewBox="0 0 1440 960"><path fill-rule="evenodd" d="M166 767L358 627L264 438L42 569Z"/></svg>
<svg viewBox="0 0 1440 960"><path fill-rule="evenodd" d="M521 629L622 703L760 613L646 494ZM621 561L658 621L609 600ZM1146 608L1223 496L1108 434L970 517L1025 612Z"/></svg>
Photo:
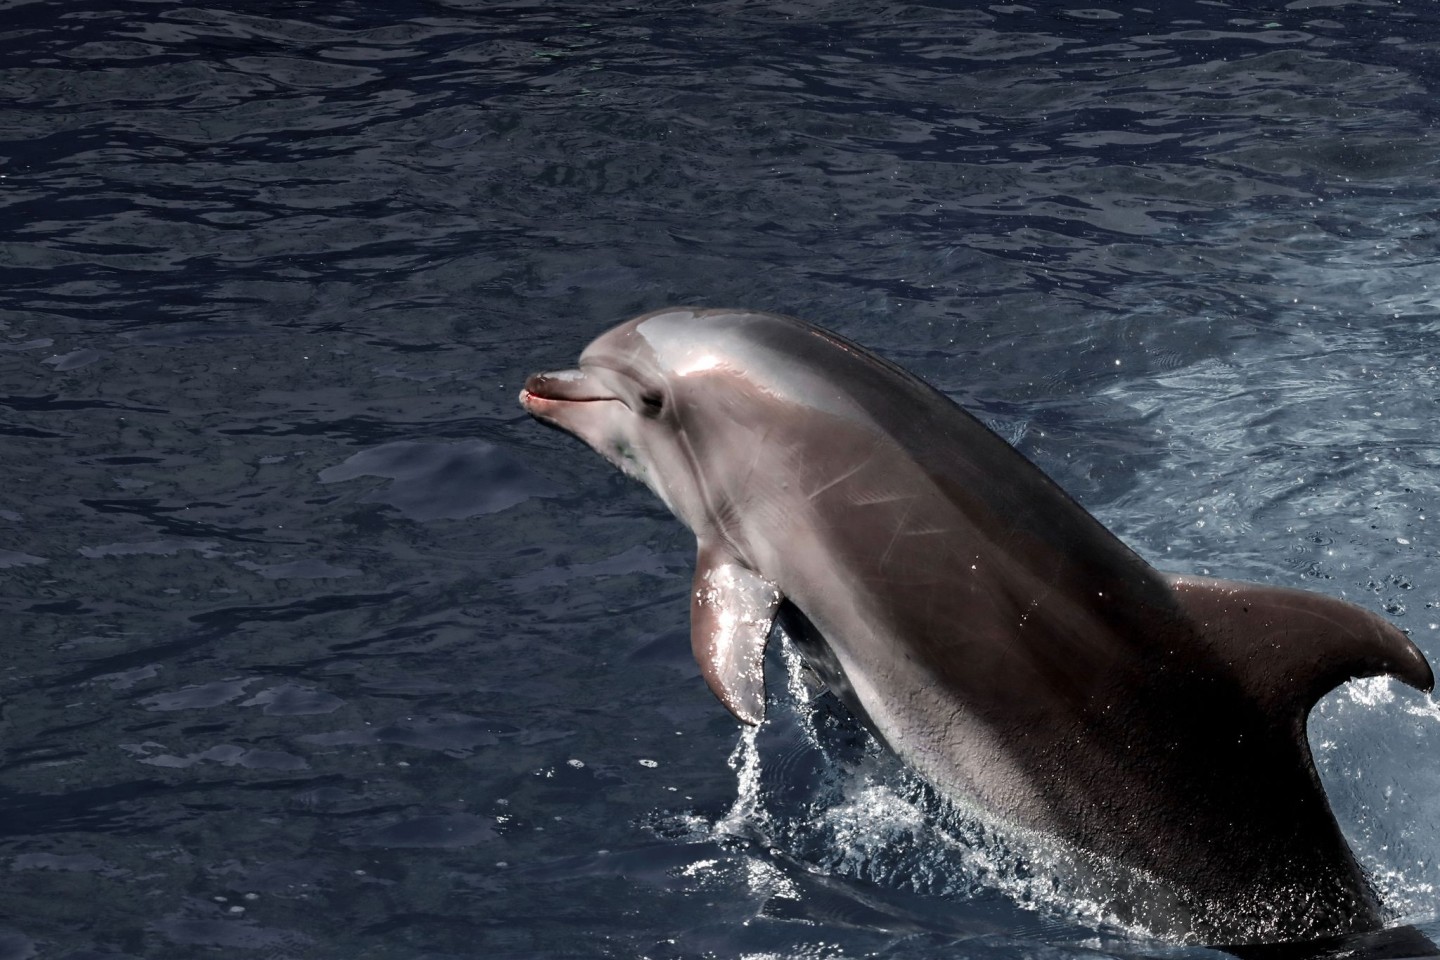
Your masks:
<svg viewBox="0 0 1440 960"><path fill-rule="evenodd" d="M701 541L690 646L710 691L744 724L765 720L765 642L780 599L773 583Z"/></svg>

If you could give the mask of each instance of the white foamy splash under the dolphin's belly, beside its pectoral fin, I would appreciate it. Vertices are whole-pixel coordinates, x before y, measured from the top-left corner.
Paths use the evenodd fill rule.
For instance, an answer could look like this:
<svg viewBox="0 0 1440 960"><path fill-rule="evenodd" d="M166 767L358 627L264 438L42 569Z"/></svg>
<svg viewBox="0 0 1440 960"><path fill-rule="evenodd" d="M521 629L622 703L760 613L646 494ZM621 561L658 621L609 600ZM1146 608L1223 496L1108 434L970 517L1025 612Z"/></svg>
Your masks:
<svg viewBox="0 0 1440 960"><path fill-rule="evenodd" d="M711 828L717 839L755 845L746 866L755 892L801 897L793 882L778 881L798 869L940 904L999 892L1087 936L1153 933L1106 895L1148 879L1028 830L999 830L942 797L818 692L799 651L778 633L772 675L786 682L775 685L766 723L740 733L729 759L736 799Z"/></svg>

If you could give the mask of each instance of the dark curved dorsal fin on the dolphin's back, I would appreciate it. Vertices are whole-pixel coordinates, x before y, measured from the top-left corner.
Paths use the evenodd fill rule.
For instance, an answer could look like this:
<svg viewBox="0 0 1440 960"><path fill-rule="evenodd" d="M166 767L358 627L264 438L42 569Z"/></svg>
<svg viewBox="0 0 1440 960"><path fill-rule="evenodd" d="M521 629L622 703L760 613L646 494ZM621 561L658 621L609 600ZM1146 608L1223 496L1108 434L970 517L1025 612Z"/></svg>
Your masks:
<svg viewBox="0 0 1440 960"><path fill-rule="evenodd" d="M1348 679L1388 674L1428 692L1434 675L1414 643L1369 610L1308 590L1171 576L1181 609L1276 711L1299 711Z"/></svg>

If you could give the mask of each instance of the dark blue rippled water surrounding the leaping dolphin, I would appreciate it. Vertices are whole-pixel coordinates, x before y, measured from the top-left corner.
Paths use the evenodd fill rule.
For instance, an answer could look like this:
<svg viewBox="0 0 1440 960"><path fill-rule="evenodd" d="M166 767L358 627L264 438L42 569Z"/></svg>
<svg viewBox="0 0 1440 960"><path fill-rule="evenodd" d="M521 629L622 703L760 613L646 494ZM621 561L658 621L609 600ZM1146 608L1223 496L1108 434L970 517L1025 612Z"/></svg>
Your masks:
<svg viewBox="0 0 1440 960"><path fill-rule="evenodd" d="M690 535L516 404L667 304L1440 658L1430 3L0 10L0 957L1204 954L783 684L742 740ZM1310 738L1440 934L1440 712Z"/></svg>

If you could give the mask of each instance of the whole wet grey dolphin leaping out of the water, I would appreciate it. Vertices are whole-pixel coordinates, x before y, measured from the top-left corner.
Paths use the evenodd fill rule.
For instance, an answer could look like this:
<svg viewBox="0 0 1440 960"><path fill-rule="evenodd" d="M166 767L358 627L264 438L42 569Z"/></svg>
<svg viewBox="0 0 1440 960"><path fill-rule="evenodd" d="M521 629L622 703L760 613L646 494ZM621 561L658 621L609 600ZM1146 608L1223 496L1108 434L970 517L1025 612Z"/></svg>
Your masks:
<svg viewBox="0 0 1440 960"><path fill-rule="evenodd" d="M948 397L793 318L647 314L520 400L694 531L691 643L740 721L779 613L942 794L1143 878L1152 930L1382 927L1305 724L1349 678L1431 688L1384 619L1155 570Z"/></svg>

